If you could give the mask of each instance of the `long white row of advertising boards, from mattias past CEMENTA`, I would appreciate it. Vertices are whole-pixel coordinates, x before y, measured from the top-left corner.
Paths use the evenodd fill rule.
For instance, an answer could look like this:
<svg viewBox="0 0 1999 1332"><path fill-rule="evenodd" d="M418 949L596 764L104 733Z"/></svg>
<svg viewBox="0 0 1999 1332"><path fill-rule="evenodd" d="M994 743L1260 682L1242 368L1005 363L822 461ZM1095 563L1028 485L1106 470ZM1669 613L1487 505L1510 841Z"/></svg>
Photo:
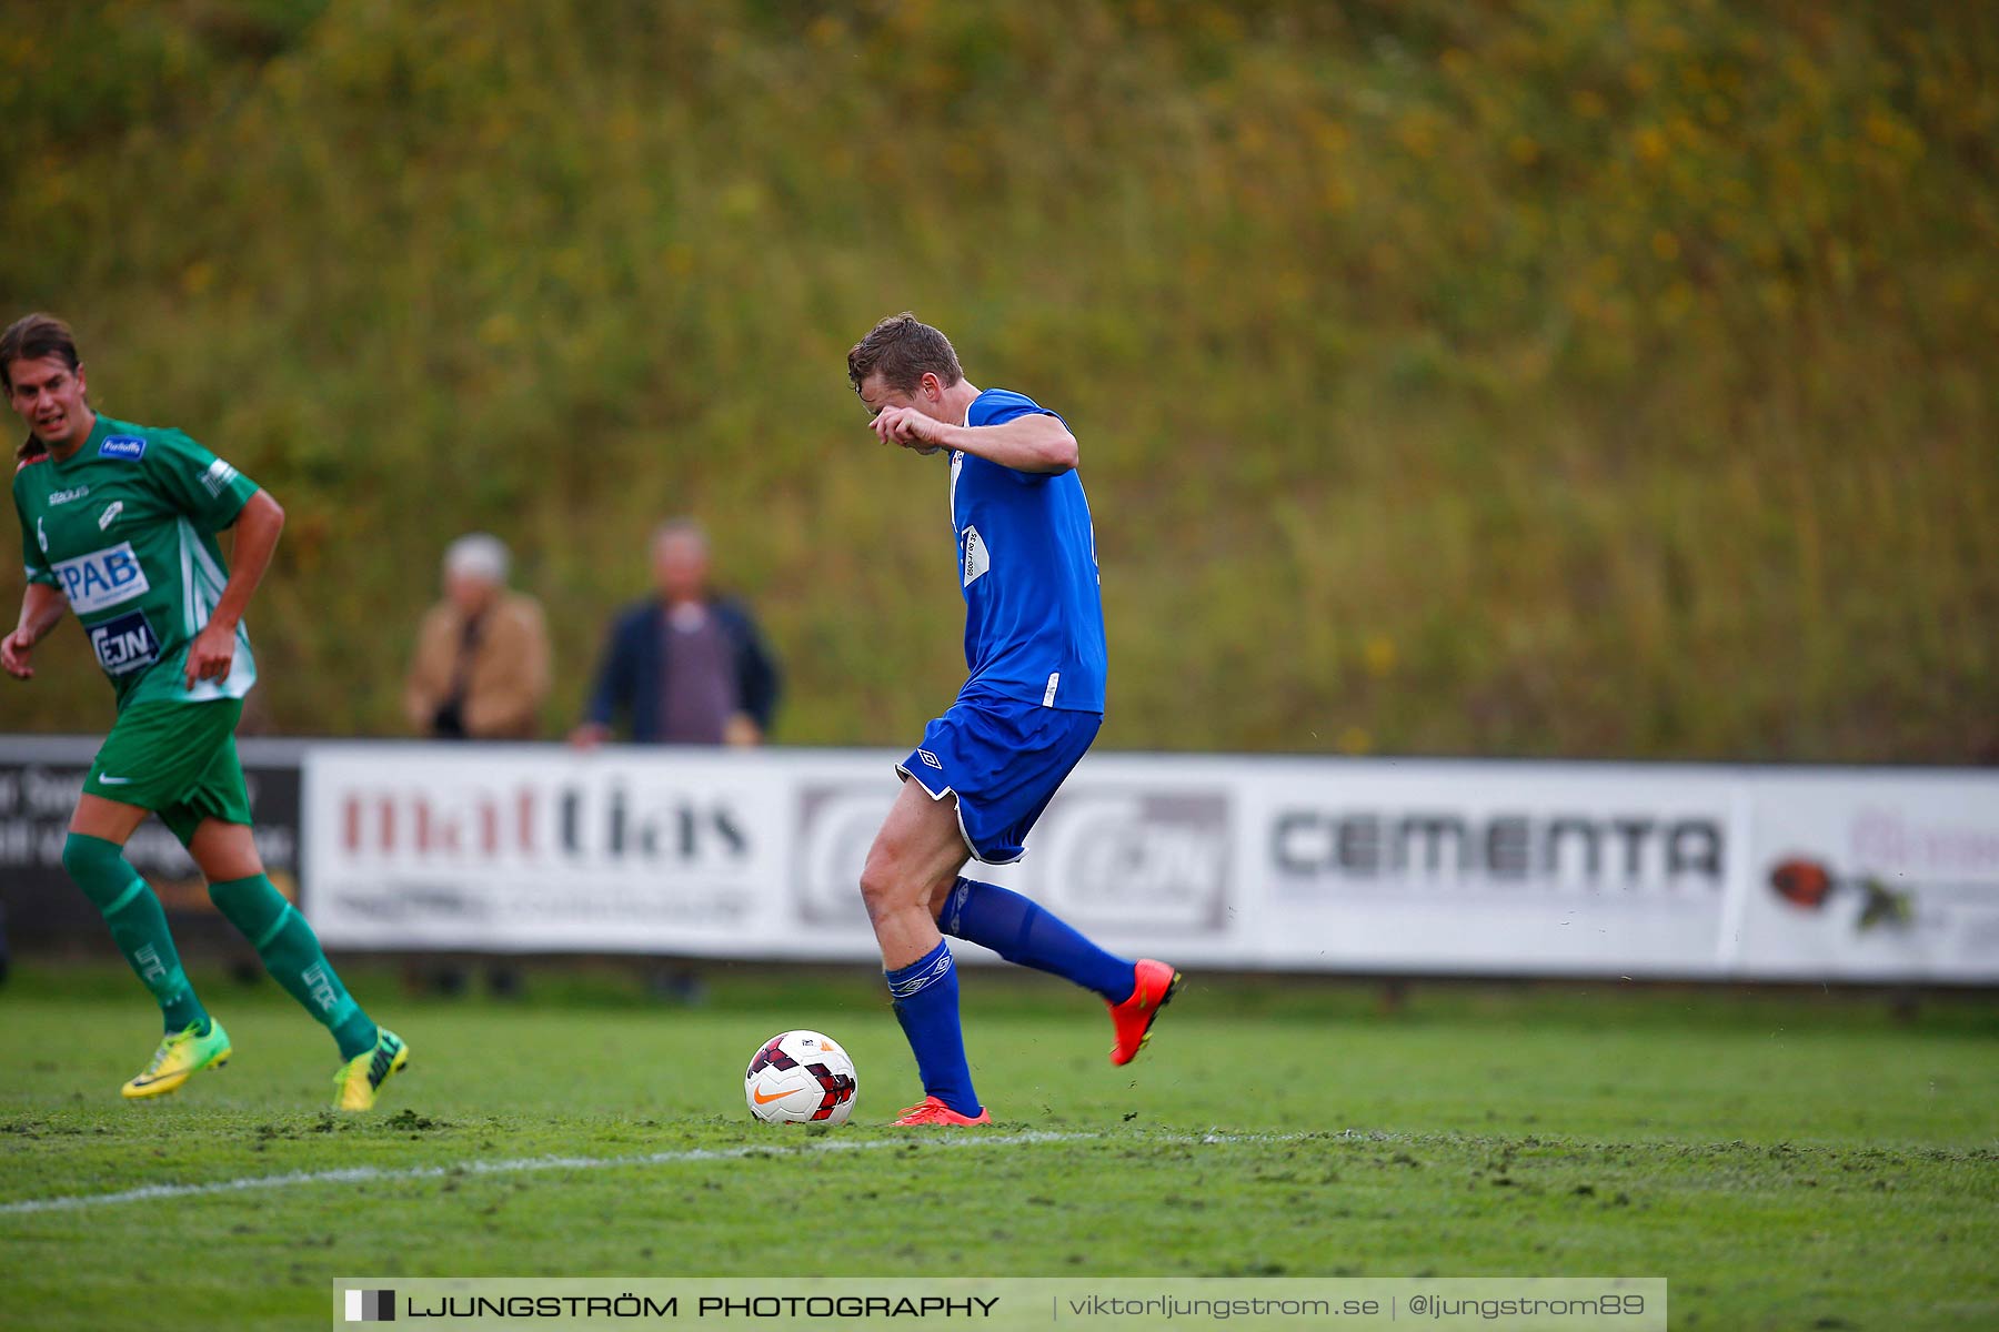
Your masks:
<svg viewBox="0 0 1999 1332"><path fill-rule="evenodd" d="M346 949L872 961L896 757L314 745L308 915ZM968 873L1193 967L1999 981L1995 773L1105 753Z"/></svg>

